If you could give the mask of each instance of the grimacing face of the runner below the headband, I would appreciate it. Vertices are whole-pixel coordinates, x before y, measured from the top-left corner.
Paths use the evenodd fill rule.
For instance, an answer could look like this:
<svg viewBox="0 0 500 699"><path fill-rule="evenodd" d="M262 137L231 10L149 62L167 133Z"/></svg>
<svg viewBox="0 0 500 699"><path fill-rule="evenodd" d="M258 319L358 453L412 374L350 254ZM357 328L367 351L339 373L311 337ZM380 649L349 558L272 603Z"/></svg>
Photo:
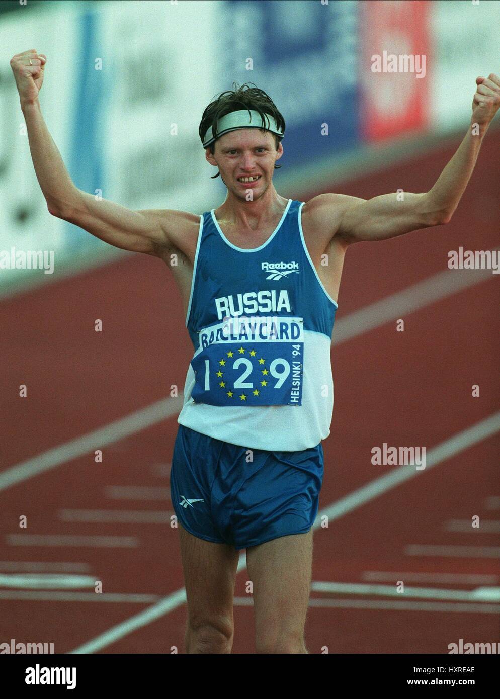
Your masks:
<svg viewBox="0 0 500 699"><path fill-rule="evenodd" d="M252 189L254 201L270 187L274 164L282 154L283 146L280 143L276 150L273 134L259 129L230 131L217 138L213 154L206 149L206 159L219 168L227 189L243 200L248 189ZM253 177L257 180L250 182Z"/></svg>

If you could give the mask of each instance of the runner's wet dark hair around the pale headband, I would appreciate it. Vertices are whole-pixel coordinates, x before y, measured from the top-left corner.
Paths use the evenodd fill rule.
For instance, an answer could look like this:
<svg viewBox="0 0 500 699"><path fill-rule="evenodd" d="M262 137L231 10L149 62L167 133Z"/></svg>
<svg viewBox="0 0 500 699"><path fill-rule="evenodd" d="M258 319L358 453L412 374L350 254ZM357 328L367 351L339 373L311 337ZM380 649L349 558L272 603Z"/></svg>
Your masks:
<svg viewBox="0 0 500 699"><path fill-rule="evenodd" d="M254 85L254 87L249 87L250 85ZM283 115L278 111L276 104L264 90L259 89L253 82L245 82L241 87L239 87L237 82L233 82L233 89L221 92L216 96L216 99L210 102L203 112L198 129L201 143L203 143L203 137L207 129L214 127L214 124L217 124L217 120L219 120L220 117L238 109L248 109L249 111L253 109L257 111L263 124L266 124L264 113L269 114L276 121L278 129L281 129L283 133L285 132L285 120L283 119ZM267 129L262 129L262 131L267 131ZM212 129L212 135L216 136L214 129ZM273 136L276 143L276 150L278 150L283 136L276 136L276 134L273 134ZM211 143L208 148L210 148L210 153L213 154L215 151L215 141ZM275 165L274 167L278 169L281 166ZM211 179L213 180L219 175L220 173L217 172L217 175L213 175Z"/></svg>

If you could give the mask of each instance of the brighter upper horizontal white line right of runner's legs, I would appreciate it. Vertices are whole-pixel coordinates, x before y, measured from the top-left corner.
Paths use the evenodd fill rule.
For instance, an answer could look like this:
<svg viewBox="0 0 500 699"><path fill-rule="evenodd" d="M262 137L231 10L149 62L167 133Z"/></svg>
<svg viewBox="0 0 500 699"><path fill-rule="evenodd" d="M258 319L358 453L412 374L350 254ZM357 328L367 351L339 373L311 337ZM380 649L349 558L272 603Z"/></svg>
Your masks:
<svg viewBox="0 0 500 699"><path fill-rule="evenodd" d="M500 602L500 587L478 587L475 590L445 590L430 587L405 587L398 592L395 585L369 585L352 582L313 581L313 592L380 597L417 597L431 600L459 600L461 602Z"/></svg>

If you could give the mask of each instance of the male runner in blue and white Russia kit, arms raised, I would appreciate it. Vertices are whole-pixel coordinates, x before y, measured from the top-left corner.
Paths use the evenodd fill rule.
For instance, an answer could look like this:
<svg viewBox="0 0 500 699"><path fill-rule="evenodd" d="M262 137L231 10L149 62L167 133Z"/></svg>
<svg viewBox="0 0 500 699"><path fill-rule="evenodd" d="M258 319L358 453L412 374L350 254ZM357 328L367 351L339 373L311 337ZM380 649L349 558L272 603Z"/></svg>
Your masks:
<svg viewBox="0 0 500 699"><path fill-rule="evenodd" d="M173 451L171 496L187 591L188 653L230 653L238 551L246 549L257 653L307 653L321 442L333 408L330 343L345 250L448 223L500 106L477 78L471 128L429 192L365 200L280 196L285 121L257 87L222 93L199 135L227 196L197 216L96 201L71 181L41 115L46 57L10 61L48 210L124 250L171 266L194 356ZM329 264L322 266L322 255Z"/></svg>

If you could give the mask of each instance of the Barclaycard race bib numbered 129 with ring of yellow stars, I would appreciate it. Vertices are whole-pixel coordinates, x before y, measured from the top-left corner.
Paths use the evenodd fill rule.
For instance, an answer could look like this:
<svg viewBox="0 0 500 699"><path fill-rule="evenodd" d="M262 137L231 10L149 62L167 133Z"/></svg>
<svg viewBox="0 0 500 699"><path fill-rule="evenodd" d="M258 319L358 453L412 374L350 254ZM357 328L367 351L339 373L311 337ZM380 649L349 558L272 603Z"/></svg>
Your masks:
<svg viewBox="0 0 500 699"><path fill-rule="evenodd" d="M199 331L192 398L210 405L301 405L303 319L236 317Z"/></svg>

